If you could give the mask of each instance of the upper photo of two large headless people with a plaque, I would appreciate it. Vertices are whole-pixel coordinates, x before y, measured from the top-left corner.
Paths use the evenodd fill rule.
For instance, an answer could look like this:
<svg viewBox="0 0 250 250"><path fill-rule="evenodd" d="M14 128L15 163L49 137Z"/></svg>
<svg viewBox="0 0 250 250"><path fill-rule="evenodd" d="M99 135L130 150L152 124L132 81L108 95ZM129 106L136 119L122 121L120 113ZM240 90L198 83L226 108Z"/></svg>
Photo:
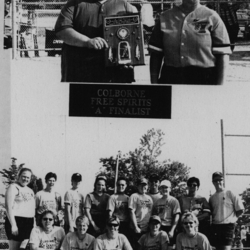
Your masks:
<svg viewBox="0 0 250 250"><path fill-rule="evenodd" d="M249 0L1 5L3 47L30 77L50 67L48 77L61 82L222 85L250 78Z"/></svg>

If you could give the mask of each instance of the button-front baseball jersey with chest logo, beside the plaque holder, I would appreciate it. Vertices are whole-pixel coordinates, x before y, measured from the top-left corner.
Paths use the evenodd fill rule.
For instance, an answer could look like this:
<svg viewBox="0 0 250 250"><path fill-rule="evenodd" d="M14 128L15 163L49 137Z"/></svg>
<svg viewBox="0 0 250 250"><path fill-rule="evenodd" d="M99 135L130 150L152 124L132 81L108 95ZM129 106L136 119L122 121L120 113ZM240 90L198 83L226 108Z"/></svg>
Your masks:
<svg viewBox="0 0 250 250"><path fill-rule="evenodd" d="M165 11L155 26L149 48L163 52L165 65L172 67L214 67L216 54L231 54L223 21L205 6L187 16L178 6Z"/></svg>

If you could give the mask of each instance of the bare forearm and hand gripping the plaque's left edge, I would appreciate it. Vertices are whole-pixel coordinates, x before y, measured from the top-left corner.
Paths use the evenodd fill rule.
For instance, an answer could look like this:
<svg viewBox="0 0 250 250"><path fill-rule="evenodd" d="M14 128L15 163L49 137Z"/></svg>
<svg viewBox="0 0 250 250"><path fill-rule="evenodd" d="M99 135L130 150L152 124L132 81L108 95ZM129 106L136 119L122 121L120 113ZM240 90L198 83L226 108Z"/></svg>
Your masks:
<svg viewBox="0 0 250 250"><path fill-rule="evenodd" d="M89 49L108 48L105 39L101 37L89 38L73 28L66 28L56 33L57 37L68 45L76 47L86 47Z"/></svg>

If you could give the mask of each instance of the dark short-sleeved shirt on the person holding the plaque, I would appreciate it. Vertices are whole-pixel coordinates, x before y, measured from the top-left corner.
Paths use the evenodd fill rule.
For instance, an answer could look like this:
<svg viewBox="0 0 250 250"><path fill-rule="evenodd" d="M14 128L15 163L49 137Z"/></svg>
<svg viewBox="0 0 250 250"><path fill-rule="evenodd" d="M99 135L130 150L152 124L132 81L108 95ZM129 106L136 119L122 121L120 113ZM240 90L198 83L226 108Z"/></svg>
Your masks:
<svg viewBox="0 0 250 250"><path fill-rule="evenodd" d="M73 28L89 38L103 37L103 17L134 13L136 8L127 0L71 0L63 7L55 32ZM105 82L104 50L63 44L61 56L62 82ZM98 74L97 70L98 69ZM118 70L118 69L116 69Z"/></svg>

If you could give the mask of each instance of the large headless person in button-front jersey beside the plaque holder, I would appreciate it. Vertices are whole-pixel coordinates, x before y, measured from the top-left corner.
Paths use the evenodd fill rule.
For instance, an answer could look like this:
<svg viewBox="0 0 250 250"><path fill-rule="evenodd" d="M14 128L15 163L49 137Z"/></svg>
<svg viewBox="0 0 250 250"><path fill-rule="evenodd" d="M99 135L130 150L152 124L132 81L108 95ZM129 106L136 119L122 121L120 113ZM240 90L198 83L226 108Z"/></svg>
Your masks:
<svg viewBox="0 0 250 250"><path fill-rule="evenodd" d="M151 83L225 82L231 54L228 33L220 16L200 0L183 0L180 6L163 12L149 49Z"/></svg>

